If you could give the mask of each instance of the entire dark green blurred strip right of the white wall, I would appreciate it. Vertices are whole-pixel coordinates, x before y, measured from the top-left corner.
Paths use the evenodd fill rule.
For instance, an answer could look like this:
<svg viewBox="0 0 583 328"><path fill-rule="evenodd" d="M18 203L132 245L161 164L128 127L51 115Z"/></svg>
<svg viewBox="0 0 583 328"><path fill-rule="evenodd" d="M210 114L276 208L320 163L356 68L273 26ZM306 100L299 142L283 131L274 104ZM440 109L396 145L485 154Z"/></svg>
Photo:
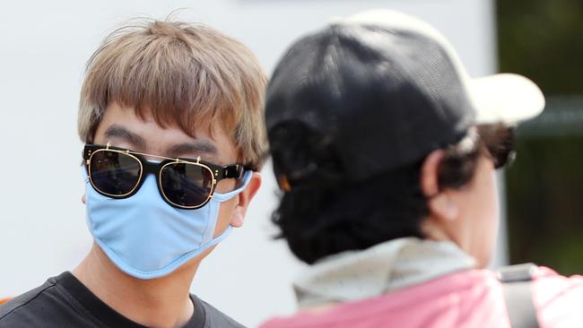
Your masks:
<svg viewBox="0 0 583 328"><path fill-rule="evenodd" d="M500 72L547 96L506 171L510 261L583 273L583 1L498 0L497 19Z"/></svg>

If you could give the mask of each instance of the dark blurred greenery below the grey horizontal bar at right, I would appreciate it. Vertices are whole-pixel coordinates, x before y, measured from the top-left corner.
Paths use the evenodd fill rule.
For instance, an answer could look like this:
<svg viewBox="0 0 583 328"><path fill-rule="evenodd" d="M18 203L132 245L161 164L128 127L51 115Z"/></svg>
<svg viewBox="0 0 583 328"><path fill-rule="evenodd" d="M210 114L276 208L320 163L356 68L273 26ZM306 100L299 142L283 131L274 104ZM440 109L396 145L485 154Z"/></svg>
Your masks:
<svg viewBox="0 0 583 328"><path fill-rule="evenodd" d="M521 138L506 172L512 263L583 272L583 135Z"/></svg>

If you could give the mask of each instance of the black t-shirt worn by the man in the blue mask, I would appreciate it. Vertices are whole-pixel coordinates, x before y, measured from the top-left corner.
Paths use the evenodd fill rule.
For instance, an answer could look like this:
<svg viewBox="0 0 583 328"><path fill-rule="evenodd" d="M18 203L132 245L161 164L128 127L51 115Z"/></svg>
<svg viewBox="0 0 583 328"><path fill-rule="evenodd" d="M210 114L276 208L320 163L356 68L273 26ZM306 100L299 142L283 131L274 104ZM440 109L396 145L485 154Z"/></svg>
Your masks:
<svg viewBox="0 0 583 328"><path fill-rule="evenodd" d="M195 315L185 328L243 327L200 298L191 295ZM103 303L70 272L49 278L42 286L0 306L0 327L124 327L144 328Z"/></svg>

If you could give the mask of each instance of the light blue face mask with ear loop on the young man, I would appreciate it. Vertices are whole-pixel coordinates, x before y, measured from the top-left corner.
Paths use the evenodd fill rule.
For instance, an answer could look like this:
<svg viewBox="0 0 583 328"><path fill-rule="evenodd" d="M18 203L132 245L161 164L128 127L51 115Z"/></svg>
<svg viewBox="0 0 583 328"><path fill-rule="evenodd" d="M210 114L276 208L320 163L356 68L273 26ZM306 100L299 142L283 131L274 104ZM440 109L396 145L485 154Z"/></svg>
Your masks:
<svg viewBox="0 0 583 328"><path fill-rule="evenodd" d="M251 172L246 172L239 189L214 193L209 203L196 210L164 202L153 175L145 177L136 194L124 199L99 194L86 177L87 225L93 239L121 271L146 280L175 271L229 235L231 226L213 237L219 208L245 189Z"/></svg>

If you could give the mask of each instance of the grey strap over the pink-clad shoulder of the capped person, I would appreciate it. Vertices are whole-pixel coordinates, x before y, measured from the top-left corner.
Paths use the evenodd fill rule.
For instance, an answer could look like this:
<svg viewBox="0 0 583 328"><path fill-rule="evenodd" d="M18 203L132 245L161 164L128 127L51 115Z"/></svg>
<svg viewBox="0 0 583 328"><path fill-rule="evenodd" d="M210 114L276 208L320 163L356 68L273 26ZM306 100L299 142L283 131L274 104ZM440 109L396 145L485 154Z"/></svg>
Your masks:
<svg viewBox="0 0 583 328"><path fill-rule="evenodd" d="M504 289L512 328L539 328L532 296L533 275L538 266L533 263L509 265L498 270L498 280Z"/></svg>

